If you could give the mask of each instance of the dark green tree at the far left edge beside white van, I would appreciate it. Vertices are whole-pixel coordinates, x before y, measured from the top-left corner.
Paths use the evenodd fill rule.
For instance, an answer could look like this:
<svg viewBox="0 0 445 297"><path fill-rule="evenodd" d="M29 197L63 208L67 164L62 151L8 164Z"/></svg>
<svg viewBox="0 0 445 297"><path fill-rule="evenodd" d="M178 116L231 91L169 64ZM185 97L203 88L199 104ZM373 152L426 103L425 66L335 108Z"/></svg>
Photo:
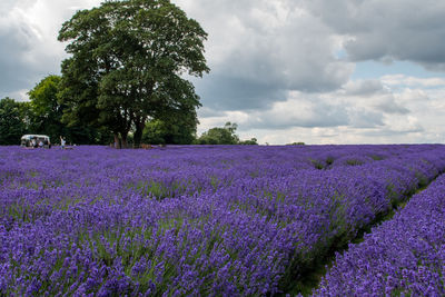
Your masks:
<svg viewBox="0 0 445 297"><path fill-rule="evenodd" d="M22 105L8 97L0 100L0 145L20 145L27 129Z"/></svg>

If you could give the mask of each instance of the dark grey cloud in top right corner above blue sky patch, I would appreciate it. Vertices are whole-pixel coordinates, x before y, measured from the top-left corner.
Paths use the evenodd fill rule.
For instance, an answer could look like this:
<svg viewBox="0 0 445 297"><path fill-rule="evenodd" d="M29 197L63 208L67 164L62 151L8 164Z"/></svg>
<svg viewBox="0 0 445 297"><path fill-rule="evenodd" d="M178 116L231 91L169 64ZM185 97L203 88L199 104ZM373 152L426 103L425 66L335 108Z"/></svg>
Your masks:
<svg viewBox="0 0 445 297"><path fill-rule="evenodd" d="M445 2L436 0L305 0L337 33L353 61L407 60L445 70Z"/></svg>

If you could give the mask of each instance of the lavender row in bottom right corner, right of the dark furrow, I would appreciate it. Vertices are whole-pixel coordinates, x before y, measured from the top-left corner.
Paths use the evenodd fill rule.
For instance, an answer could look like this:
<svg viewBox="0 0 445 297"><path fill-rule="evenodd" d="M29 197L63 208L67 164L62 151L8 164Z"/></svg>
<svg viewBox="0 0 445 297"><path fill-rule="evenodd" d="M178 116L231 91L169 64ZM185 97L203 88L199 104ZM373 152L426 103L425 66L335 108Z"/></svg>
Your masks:
<svg viewBox="0 0 445 297"><path fill-rule="evenodd" d="M315 296L445 296L445 176L352 245Z"/></svg>

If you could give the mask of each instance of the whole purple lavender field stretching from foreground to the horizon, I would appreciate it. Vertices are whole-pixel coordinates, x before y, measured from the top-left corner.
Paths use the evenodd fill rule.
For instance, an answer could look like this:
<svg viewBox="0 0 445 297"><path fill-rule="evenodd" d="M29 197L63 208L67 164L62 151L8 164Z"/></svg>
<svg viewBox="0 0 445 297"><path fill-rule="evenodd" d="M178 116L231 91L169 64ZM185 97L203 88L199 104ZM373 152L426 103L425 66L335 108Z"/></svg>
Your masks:
<svg viewBox="0 0 445 297"><path fill-rule="evenodd" d="M294 294L444 170L441 145L0 147L0 295ZM443 180L338 255L314 294L443 294Z"/></svg>

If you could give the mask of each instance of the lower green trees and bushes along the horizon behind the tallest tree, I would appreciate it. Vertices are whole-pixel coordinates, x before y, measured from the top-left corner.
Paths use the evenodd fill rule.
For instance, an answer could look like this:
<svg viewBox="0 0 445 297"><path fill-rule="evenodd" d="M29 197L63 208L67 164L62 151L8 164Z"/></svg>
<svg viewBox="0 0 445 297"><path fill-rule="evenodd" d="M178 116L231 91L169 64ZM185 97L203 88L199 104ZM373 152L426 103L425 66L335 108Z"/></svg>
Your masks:
<svg viewBox="0 0 445 297"><path fill-rule="evenodd" d="M60 136L68 143L108 145L113 142L112 132L106 127L67 125L62 120L68 107L58 101L58 83L60 77L49 76L29 91L29 101L17 101L11 98L0 100L0 145L19 145L26 133L47 135L52 142ZM256 138L240 140L236 135L238 126L226 122L224 127L215 127L196 135L196 127L187 127L181 122L149 120L142 131L141 142L152 145L258 145ZM134 129L128 137L128 146L134 147Z"/></svg>

